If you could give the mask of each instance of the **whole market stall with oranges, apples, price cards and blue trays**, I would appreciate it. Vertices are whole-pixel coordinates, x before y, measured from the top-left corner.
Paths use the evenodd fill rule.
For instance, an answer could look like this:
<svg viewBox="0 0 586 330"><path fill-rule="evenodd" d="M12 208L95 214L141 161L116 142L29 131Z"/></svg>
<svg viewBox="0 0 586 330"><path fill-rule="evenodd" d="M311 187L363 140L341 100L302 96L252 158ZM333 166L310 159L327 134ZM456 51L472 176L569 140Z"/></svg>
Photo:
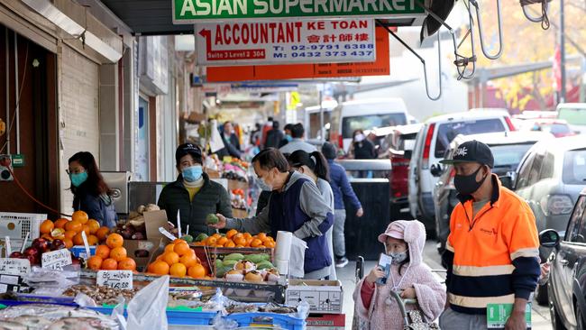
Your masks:
<svg viewBox="0 0 586 330"><path fill-rule="evenodd" d="M194 238L169 223L155 235L149 225L160 212L145 206L112 230L79 211L55 221L0 213L3 225L18 228L3 240L0 325L10 318L15 328L122 329L120 319L139 326L164 314L178 329L319 329L327 324L321 317L342 314L340 282L289 280L275 265L279 242L270 235ZM147 321L152 316L159 321Z"/></svg>

